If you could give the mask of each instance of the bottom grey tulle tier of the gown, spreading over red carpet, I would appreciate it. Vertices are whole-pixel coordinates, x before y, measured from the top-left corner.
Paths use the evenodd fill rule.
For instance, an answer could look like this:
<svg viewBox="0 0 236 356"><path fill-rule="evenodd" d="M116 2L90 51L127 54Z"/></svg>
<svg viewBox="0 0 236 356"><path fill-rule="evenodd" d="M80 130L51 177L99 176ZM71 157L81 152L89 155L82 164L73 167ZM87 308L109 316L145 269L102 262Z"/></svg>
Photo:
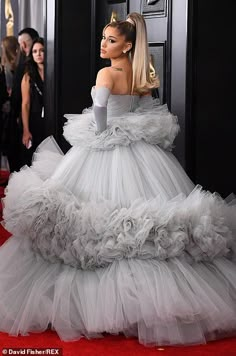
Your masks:
<svg viewBox="0 0 236 356"><path fill-rule="evenodd" d="M145 345L195 344L236 330L236 267L225 258L123 259L82 271L50 263L22 236L0 250L0 330L43 331L63 340L103 332Z"/></svg>

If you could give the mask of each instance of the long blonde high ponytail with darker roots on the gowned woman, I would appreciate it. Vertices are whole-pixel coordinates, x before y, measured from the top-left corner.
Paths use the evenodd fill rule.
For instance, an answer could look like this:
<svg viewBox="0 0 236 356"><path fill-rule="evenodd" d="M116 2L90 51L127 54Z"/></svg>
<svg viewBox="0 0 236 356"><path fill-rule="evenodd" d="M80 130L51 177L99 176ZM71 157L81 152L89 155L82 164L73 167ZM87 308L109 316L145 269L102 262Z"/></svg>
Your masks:
<svg viewBox="0 0 236 356"><path fill-rule="evenodd" d="M159 79L150 71L150 55L147 42L146 23L142 15L132 12L127 21L112 21L108 27L116 28L126 41L132 43L129 51L133 69L132 92L147 93L153 88L159 87Z"/></svg>

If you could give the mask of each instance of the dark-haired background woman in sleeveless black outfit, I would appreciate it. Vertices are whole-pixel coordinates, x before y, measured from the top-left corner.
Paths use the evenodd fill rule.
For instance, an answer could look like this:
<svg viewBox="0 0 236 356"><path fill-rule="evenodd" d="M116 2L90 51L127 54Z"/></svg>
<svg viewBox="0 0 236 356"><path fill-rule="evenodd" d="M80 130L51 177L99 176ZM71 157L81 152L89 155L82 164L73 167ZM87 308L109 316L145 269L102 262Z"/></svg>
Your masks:
<svg viewBox="0 0 236 356"><path fill-rule="evenodd" d="M23 164L31 165L36 147L44 136L44 40L39 37L33 41L26 62L26 70L21 83L22 95L22 157Z"/></svg>

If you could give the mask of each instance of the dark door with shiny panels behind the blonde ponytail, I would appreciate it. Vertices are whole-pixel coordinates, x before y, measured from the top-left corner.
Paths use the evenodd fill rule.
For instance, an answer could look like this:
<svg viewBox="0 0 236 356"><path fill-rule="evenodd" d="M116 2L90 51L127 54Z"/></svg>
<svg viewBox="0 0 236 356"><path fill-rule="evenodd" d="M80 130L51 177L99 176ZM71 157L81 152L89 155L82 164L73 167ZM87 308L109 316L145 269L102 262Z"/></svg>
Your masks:
<svg viewBox="0 0 236 356"><path fill-rule="evenodd" d="M185 108L188 0L130 0L129 12L140 12L160 76L160 98L178 116L181 127L173 153L186 167Z"/></svg>

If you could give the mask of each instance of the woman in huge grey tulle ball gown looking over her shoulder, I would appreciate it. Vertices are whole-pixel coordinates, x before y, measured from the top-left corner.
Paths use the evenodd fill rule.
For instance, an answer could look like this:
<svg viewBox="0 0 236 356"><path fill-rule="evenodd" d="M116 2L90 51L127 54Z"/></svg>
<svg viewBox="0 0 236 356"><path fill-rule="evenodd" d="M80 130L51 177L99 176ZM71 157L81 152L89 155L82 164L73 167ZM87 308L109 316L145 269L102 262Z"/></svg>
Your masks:
<svg viewBox="0 0 236 356"><path fill-rule="evenodd" d="M67 115L11 176L0 249L0 330L145 345L236 331L235 206L194 186L171 148L177 118L150 95L144 19L103 30L93 107Z"/></svg>

